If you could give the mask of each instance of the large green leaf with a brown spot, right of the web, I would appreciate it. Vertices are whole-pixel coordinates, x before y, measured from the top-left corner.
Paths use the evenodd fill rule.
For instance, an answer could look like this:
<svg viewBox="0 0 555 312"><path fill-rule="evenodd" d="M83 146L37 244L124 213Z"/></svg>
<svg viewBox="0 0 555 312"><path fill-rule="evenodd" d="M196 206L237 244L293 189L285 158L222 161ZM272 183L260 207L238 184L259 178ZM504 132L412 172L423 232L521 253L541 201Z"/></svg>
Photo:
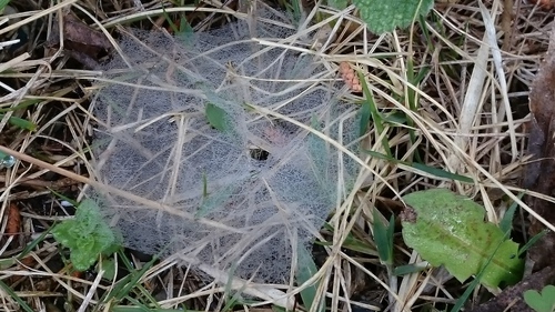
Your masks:
<svg viewBox="0 0 555 312"><path fill-rule="evenodd" d="M480 282L492 288L521 280L518 244L484 221L483 207L446 189L414 192L403 200L408 205L402 218L403 239L432 265L445 265L461 282L485 268Z"/></svg>

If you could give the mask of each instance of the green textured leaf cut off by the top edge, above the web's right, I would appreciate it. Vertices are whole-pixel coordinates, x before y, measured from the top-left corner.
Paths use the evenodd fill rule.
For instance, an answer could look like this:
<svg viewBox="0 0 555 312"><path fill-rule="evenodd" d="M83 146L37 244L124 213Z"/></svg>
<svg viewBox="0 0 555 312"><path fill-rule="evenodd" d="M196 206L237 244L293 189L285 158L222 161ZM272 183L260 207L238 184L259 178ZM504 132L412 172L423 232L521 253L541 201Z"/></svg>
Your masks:
<svg viewBox="0 0 555 312"><path fill-rule="evenodd" d="M426 16L434 0L353 0L361 10L361 18L374 33L393 31L395 28L406 28L417 16Z"/></svg>

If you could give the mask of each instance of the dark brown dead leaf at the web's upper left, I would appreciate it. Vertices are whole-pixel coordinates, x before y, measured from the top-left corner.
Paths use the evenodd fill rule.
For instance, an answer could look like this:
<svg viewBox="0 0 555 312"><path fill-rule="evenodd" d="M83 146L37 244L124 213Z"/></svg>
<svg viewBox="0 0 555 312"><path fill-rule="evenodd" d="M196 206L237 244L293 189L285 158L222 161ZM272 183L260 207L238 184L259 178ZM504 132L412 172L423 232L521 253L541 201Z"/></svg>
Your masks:
<svg viewBox="0 0 555 312"><path fill-rule="evenodd" d="M62 17L64 51L88 68L98 67L101 51L110 51L112 44L103 32L89 27L71 13ZM54 21L52 34L48 40L49 47L60 46L60 30L58 20Z"/></svg>

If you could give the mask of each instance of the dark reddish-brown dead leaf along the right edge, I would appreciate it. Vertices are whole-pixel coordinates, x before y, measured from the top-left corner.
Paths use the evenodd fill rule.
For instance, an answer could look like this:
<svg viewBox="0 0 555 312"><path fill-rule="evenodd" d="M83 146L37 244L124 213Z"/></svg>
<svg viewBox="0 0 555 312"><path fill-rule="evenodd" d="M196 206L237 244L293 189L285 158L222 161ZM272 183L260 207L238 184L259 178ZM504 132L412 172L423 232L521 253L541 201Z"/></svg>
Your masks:
<svg viewBox="0 0 555 312"><path fill-rule="evenodd" d="M549 49L531 87L529 110L532 114L528 152L533 154L524 172L524 188L549 197L555 195L555 31L552 30ZM528 198L528 204L548 222L555 223L553 203ZM544 225L533 219L528 233L535 235ZM551 263L555 256L555 233L545 235L529 250L535 270Z"/></svg>

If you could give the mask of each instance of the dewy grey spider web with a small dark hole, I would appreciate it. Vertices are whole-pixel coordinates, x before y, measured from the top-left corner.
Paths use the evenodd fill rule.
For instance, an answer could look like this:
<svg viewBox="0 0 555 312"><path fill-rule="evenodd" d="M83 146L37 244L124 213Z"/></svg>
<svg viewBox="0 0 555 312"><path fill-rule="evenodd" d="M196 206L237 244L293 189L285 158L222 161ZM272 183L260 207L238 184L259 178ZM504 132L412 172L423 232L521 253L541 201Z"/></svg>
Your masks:
<svg viewBox="0 0 555 312"><path fill-rule="evenodd" d="M282 48L258 44L253 31ZM287 282L293 250L310 249L359 168L256 107L357 151L355 114L334 97L334 74L317 57L285 49L297 40L275 22L259 21L250 31L236 22L181 39L132 33L120 42L127 62L114 57L103 68L111 82L94 103L95 173L161 207L100 190L91 197L127 246ZM209 124L206 105L224 112L223 131Z"/></svg>

